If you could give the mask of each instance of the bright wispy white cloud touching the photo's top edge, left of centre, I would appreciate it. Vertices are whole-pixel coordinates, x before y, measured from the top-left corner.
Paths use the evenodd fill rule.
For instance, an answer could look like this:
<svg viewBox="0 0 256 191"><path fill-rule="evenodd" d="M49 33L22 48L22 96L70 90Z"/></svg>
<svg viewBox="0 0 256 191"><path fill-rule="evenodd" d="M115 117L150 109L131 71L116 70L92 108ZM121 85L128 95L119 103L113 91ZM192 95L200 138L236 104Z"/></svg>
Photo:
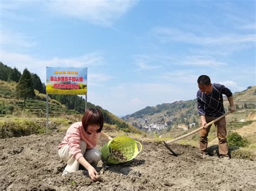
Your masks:
<svg viewBox="0 0 256 191"><path fill-rule="evenodd" d="M46 6L54 13L85 19L90 23L111 26L113 21L124 15L138 3L137 0L55 0Z"/></svg>

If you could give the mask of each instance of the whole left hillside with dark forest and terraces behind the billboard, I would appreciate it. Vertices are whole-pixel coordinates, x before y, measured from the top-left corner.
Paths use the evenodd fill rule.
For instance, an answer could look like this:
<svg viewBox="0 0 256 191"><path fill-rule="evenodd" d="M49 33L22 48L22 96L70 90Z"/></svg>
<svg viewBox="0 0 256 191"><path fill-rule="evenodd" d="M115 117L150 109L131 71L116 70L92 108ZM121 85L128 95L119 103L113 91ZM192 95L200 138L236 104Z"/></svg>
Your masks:
<svg viewBox="0 0 256 191"><path fill-rule="evenodd" d="M24 70L25 71L25 70ZM23 72L24 73L24 72ZM29 72L30 73L30 72ZM22 100L17 99L17 82L22 74L17 68L11 68L0 61L0 115L15 114L16 111L30 112L32 115L43 117L46 115L45 84L37 74L31 74L32 89L35 90L35 100L29 100L26 106ZM85 100L78 95L49 95L49 115L61 116L63 114L84 114ZM87 102L87 108L99 108L104 116L104 122L116 125L125 132L141 133L137 128L124 122L111 112L99 105Z"/></svg>

